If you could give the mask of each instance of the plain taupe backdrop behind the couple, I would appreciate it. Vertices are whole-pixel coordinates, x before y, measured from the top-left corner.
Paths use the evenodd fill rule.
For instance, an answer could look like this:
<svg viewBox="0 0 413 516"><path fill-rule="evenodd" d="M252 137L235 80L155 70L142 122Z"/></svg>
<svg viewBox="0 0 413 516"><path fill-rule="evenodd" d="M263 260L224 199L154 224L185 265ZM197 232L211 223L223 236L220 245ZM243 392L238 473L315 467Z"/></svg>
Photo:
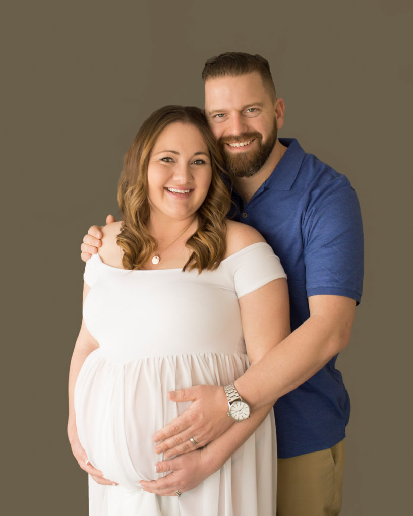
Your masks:
<svg viewBox="0 0 413 516"><path fill-rule="evenodd" d="M260 53L282 136L356 188L364 296L340 354L352 399L343 516L411 502L410 2L23 1L2 20L2 481L6 514L86 514L66 440L81 239L117 212L123 153L165 104L202 106L204 61ZM2 508L3 509L3 508ZM305 516L305 515L303 515Z"/></svg>

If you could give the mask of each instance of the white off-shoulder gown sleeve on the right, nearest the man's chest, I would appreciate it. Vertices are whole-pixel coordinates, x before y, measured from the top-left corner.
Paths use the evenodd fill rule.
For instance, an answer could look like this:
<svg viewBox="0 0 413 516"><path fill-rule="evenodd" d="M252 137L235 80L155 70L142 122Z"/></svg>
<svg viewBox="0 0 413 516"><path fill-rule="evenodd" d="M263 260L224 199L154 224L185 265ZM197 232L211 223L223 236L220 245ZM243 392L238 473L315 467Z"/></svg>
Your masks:
<svg viewBox="0 0 413 516"><path fill-rule="evenodd" d="M226 260L239 299L278 278L287 279L280 259L271 246L258 242L241 249Z"/></svg>

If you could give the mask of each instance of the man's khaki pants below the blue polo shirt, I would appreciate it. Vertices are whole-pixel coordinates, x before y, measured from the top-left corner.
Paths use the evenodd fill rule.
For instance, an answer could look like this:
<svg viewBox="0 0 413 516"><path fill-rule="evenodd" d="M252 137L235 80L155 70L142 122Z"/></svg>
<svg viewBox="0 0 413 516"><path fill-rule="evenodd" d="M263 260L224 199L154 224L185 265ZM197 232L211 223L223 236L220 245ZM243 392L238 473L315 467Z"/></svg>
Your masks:
<svg viewBox="0 0 413 516"><path fill-rule="evenodd" d="M277 516L337 516L344 463L344 440L332 448L278 459Z"/></svg>

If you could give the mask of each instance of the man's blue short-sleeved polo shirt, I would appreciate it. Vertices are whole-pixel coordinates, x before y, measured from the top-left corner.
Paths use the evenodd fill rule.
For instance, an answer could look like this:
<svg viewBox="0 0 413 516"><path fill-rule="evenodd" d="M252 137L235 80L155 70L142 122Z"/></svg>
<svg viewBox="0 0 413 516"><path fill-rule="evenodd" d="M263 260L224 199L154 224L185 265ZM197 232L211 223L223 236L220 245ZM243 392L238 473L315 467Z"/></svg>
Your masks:
<svg viewBox="0 0 413 516"><path fill-rule="evenodd" d="M248 203L236 191L232 218L256 228L287 272L291 329L308 319L308 297L329 294L360 302L363 231L356 192L348 179L297 140ZM278 456L330 448L345 437L350 399L337 356L274 407Z"/></svg>

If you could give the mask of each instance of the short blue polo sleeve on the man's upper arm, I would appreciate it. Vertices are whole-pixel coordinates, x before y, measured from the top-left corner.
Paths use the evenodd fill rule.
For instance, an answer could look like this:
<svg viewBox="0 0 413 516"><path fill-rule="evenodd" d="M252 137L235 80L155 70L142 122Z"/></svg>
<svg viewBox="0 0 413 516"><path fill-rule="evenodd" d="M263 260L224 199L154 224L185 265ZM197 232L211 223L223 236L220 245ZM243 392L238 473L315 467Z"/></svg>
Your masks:
<svg viewBox="0 0 413 516"><path fill-rule="evenodd" d="M304 230L307 297L336 295L360 302L363 229L360 205L350 183L314 200Z"/></svg>

